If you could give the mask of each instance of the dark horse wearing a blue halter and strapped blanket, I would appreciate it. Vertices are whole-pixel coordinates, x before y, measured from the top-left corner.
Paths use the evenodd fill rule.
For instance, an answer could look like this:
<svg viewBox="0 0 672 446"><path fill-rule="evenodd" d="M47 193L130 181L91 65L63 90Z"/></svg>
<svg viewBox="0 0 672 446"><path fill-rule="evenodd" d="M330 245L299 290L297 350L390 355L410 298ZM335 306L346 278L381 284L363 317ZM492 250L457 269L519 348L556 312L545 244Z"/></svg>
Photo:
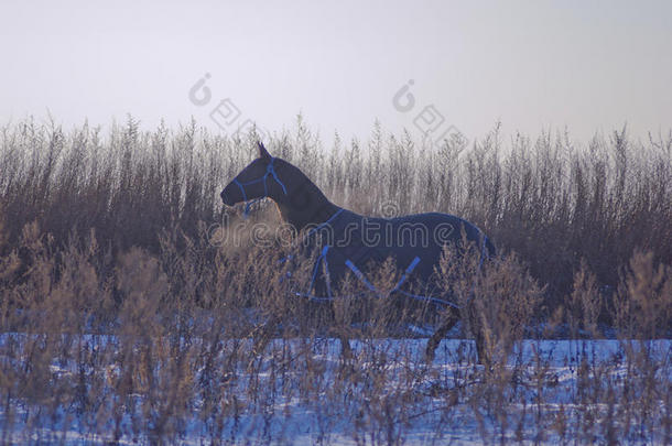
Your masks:
<svg viewBox="0 0 672 446"><path fill-rule="evenodd" d="M271 156L262 143L258 145L259 157L221 191L224 204L234 206L268 197L275 202L282 219L297 233L319 235L321 252L313 281L305 293L311 298L337 298L332 292L348 272L376 291L362 272L365 266L393 258L403 269L403 274L392 293L446 305L446 316L427 342L427 358L433 358L441 339L460 317L459 308L438 298L435 293L440 291L431 286L444 246L462 246L465 241L474 243L483 262L495 255L490 240L473 224L447 214L429 213L387 219L365 217L338 207L297 167ZM322 273L318 273L319 266L323 266ZM424 285L423 295L410 292L418 290L418 284ZM484 340L478 329L476 331L477 351L483 361L486 359ZM348 352L348 340L342 338L342 342L344 352Z"/></svg>

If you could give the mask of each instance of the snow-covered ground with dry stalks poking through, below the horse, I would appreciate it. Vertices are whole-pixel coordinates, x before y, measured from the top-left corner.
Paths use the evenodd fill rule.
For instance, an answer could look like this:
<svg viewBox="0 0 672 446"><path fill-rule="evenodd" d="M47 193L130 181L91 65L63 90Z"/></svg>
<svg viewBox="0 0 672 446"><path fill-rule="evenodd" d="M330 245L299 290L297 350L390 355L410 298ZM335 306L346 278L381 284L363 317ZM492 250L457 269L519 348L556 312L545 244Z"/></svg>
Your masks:
<svg viewBox="0 0 672 446"><path fill-rule="evenodd" d="M22 368L36 367L14 355L29 351L23 346L33 336L0 336L1 379L20 379ZM425 339L353 341L354 358L347 360L334 339L277 339L261 356L235 366L227 351L249 351L251 341L223 340L217 358L208 359L212 367L204 366L207 349L198 342L184 347L194 352L185 366L193 376L175 381L174 398L152 396L152 385L171 393L162 371L172 363L158 363L154 381L120 394L127 366L119 340L85 336L69 342L79 353L110 353L86 370L82 355L63 352L48 365L43 393L26 394L18 390L25 385L6 382L1 440L663 444L672 428L671 340L525 340L506 366L490 370L475 363L474 344L459 339L445 339L431 365L423 357ZM50 391L63 396L45 396ZM78 403L75 394L87 402Z"/></svg>

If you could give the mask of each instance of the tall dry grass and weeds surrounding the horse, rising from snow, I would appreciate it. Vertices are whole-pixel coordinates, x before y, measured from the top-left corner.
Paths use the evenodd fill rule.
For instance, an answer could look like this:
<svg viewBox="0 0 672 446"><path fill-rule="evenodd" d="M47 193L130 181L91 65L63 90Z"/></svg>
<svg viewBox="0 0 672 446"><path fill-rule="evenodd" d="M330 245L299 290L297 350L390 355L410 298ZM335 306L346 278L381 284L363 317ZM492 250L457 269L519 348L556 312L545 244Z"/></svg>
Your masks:
<svg viewBox="0 0 672 446"><path fill-rule="evenodd" d="M308 302L291 291L310 261L281 280L278 241L214 243L217 194L253 134L145 133L129 119L102 140L25 122L6 127L0 146L3 440L19 429L58 442L74 428L91 442L291 442L293 401L325 443L334 432L403 443L418 420L442 442L465 416L488 443L671 440L672 365L651 339L672 329L672 135L644 145L618 132L586 151L521 137L505 151L496 130L468 150L433 150L376 129L368 148L326 157L317 141L301 128L267 145L346 207L449 211L492 236L498 261L478 270L446 250L440 268L462 334L484 333L489 367L472 342L426 365L414 340L389 341L407 337L400 325L435 324L435 307L367 295L357 281L343 292L358 300ZM256 218L271 225L271 210ZM386 264L370 278L390 290L398 274ZM618 351L603 360L587 339L605 326ZM524 337L559 334L576 339L571 398L546 352L521 352ZM339 336L357 340L354 357L332 363L325 337Z"/></svg>

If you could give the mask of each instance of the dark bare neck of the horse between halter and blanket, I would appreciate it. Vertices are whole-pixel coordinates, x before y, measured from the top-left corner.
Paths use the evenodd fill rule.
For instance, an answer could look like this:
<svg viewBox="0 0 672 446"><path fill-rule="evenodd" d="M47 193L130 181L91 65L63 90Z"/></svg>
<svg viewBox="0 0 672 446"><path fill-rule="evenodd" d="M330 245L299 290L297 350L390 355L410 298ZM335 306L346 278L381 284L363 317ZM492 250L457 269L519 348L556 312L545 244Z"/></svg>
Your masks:
<svg viewBox="0 0 672 446"><path fill-rule="evenodd" d="M292 225L297 232L308 225L321 225L327 221L340 209L307 178L297 187L290 187L289 195L279 197L275 202L282 219Z"/></svg>

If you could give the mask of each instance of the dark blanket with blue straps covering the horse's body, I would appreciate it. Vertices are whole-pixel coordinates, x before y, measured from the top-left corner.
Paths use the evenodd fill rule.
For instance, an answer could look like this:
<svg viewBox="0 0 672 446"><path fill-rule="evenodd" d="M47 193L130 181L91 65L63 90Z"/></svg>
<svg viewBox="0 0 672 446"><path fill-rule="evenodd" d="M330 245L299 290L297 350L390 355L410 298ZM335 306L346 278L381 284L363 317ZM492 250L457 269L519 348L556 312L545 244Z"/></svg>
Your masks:
<svg viewBox="0 0 672 446"><path fill-rule="evenodd" d="M444 292L435 284L444 246L462 241L477 243L480 262L495 254L495 247L476 226L440 213L416 214L398 218L365 217L340 208L327 221L306 231L303 243L319 254L312 265L311 284L296 294L316 301L330 301L334 284L348 272L354 273L370 291L377 292L366 272L392 257L403 270L391 293L454 306L442 298ZM462 247L464 248L464 247ZM411 292L420 287L422 294Z"/></svg>

